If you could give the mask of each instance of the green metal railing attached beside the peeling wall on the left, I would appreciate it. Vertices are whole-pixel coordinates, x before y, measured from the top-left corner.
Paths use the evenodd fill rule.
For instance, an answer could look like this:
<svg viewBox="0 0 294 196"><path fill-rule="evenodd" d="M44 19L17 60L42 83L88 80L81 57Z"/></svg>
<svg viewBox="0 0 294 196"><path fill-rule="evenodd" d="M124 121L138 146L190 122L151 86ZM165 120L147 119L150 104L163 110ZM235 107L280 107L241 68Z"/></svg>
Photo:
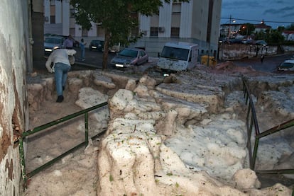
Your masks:
<svg viewBox="0 0 294 196"><path fill-rule="evenodd" d="M23 179L23 185L24 188L27 187L27 180L28 178L31 178L33 175L35 175L36 173L43 171L45 168L47 168L48 166L52 165L53 163L55 163L56 161L59 161L60 158L67 156L68 154L72 153L72 151L75 151L77 149L79 149L81 146L87 146L89 144L89 129L88 129L88 116L89 116L89 112L92 110L96 110L97 108L101 108L104 105L107 105L107 102L104 103L100 103L98 105L94 105L91 108L87 108L85 110L81 110L80 112L77 113L73 113L71 115L67 115L65 117L62 117L58 120L54 120L52 122L48 122L45 125L40 125L39 127L35 127L32 130L28 130L27 132L23 132L21 134L21 137L19 139L19 154L20 154L20 161L21 161L21 177ZM47 163L43 164L42 166L39 166L38 168L36 168L35 170L31 171L30 173L26 173L26 161L25 161L25 154L24 154L24 150L23 150L23 139L25 139L26 137L28 137L31 134L36 134L37 132L40 132L44 129L47 129L49 127L52 127L54 125L58 125L62 122L65 122L67 120L71 120L72 118L78 117L80 115L85 115L85 142L82 142L81 144L78 144L77 146L73 147L72 149L66 151L65 153L61 154L60 156L53 158L52 160L48 161ZM106 129L104 129L102 132L100 132L99 134L94 135L93 137L91 137L91 139L95 138L95 137L99 137L101 134L104 134L104 132L106 131Z"/></svg>

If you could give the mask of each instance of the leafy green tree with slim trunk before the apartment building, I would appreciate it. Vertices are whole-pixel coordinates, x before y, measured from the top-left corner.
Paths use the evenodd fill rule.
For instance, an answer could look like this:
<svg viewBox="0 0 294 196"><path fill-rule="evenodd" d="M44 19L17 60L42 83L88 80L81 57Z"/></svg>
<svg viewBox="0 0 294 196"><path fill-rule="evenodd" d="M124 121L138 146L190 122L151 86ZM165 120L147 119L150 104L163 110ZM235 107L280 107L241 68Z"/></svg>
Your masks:
<svg viewBox="0 0 294 196"><path fill-rule="evenodd" d="M178 0L188 2L190 0ZM165 0L170 3L170 0ZM89 30L92 23L104 29L103 69L107 69L108 48L120 42L127 45L136 40L130 33L138 28L138 13L153 16L159 13L160 0L70 0L75 7L75 20L82 28Z"/></svg>

